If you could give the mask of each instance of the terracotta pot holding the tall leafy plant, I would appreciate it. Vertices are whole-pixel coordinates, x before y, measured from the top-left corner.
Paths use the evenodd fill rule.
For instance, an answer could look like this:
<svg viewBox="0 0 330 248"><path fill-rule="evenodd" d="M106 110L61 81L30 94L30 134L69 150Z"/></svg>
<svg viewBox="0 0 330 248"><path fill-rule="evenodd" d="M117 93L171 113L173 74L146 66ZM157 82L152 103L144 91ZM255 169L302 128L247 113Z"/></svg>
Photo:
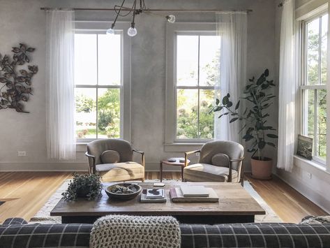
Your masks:
<svg viewBox="0 0 330 248"><path fill-rule="evenodd" d="M258 160L257 156L251 158L252 177L255 179L270 180L272 168L273 159L264 157L264 160Z"/></svg>

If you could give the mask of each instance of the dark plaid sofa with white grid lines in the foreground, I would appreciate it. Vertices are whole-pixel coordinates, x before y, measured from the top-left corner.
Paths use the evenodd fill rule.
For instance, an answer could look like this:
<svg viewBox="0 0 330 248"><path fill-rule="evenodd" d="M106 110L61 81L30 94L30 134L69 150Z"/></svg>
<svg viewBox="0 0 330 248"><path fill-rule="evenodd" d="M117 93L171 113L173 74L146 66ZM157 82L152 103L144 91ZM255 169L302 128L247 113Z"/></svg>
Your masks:
<svg viewBox="0 0 330 248"><path fill-rule="evenodd" d="M91 224L0 225L0 247L89 247ZM330 224L181 224L181 247L330 247Z"/></svg>

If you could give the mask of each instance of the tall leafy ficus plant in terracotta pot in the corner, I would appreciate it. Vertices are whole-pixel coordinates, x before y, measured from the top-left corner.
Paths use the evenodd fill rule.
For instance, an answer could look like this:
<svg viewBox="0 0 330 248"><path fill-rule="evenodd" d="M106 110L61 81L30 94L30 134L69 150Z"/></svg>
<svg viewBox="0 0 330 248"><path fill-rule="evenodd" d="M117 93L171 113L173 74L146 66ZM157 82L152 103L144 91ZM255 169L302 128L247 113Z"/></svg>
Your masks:
<svg viewBox="0 0 330 248"><path fill-rule="evenodd" d="M267 124L269 112L267 109L273 103L276 96L269 92L274 87L273 80L268 80L269 70L266 69L257 80L255 77L249 79L248 85L244 89L245 96L241 100L247 102L244 111L240 111L240 102L233 104L230 101L230 94L223 97L222 101L216 99L216 106L211 111L222 111L219 118L229 115L230 123L242 121L241 131L245 131L243 140L250 144L248 152L251 155L252 176L257 179L267 180L271 178L273 161L264 156L264 148L268 145L276 147L275 142L278 136L273 134L276 129Z"/></svg>

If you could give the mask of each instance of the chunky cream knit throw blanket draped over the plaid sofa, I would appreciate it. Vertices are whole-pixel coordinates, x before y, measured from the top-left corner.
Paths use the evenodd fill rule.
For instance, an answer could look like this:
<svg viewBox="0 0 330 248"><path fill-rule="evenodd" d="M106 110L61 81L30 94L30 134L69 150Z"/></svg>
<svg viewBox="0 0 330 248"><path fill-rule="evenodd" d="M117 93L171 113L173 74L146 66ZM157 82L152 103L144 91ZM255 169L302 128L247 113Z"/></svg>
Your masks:
<svg viewBox="0 0 330 248"><path fill-rule="evenodd" d="M181 236L173 217L107 215L96 220L89 247L180 247Z"/></svg>

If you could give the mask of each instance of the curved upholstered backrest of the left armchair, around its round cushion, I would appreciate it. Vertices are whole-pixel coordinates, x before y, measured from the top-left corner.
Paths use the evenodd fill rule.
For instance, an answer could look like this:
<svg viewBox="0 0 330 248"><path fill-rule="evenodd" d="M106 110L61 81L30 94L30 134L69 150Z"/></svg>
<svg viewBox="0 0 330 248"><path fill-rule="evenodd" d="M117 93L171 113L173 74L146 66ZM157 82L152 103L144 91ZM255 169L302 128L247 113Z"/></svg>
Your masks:
<svg viewBox="0 0 330 248"><path fill-rule="evenodd" d="M95 156L95 164L102 163L101 154L107 150L118 152L120 155L119 162L133 161L133 148L126 140L108 138L93 140L87 144L88 153Z"/></svg>

